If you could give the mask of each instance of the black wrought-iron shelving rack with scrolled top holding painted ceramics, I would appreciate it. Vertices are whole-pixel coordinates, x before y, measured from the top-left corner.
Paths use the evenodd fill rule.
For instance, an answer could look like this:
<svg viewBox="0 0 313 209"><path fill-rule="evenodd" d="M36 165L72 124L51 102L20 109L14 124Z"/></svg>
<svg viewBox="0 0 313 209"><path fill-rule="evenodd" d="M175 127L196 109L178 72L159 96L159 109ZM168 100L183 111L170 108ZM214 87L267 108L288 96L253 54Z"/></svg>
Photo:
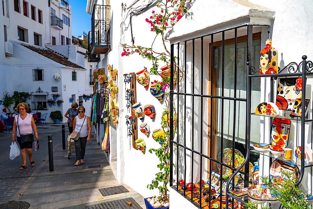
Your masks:
<svg viewBox="0 0 313 209"><path fill-rule="evenodd" d="M251 47L251 45L250 45ZM249 42L248 42L248 49L249 49ZM284 67L283 69L279 69L277 74L265 74L265 75L255 75L254 73L257 72L257 70L255 69L255 67L251 66L250 62L247 62L247 105L246 105L246 148L249 148L250 145L250 119L251 119L251 115L254 115L254 113L250 113L251 111L251 79L252 78L262 78L262 77L267 77L271 79L271 93L270 93L270 102L274 101L274 80L277 79L278 77L299 77L302 78L302 98L306 98L306 78L307 76L313 75L313 63L312 61L306 61L307 56L303 55L302 56L302 62L300 62L299 64L296 62L291 62L290 64L288 64L286 67ZM248 59L249 60L249 59ZM288 73L282 73L284 71L288 71ZM305 102L301 102L301 108L302 110L305 110ZM308 107L309 108L309 107ZM301 124L301 128L300 128L300 145L301 147L305 147L305 123L306 122L312 122L313 120L313 112L312 112L312 118L307 120L304 116L305 114L303 114L302 117L300 117L300 119L295 119L300 121ZM264 115L260 115L260 116L264 116ZM279 117L279 116L277 116ZM273 118L275 118L275 116L271 117L271 122L273 120ZM289 118L290 119L290 118ZM291 119L292 120L292 119ZM245 156L245 160L244 163L239 166L239 168L233 173L233 175L229 178L227 186L226 186L226 206L228 205L228 197L232 197L233 199L245 204L246 202L241 200L240 198L238 198L237 196L234 196L233 194L229 193L229 184L232 182L233 178L236 176L236 174L247 164L247 166L245 168L249 168L249 158L250 158L250 152L252 150L246 150L246 156ZM264 154L265 155L265 154ZM272 159L275 158L274 155L270 155L270 154L266 154L267 156L270 157L270 163L272 161ZM299 179L297 184L300 184L303 176L304 176L304 172L305 172L305 168L306 167L313 167L313 163L310 163L308 165L305 166L305 152L302 151L301 152L301 160L300 163L296 163L300 166L300 173L299 173ZM247 173L247 172L245 172ZM248 178L248 179L247 179ZM249 181L249 170L248 170L248 175L245 176L245 183ZM245 184L246 186L246 184ZM280 206L281 207L281 206Z"/></svg>

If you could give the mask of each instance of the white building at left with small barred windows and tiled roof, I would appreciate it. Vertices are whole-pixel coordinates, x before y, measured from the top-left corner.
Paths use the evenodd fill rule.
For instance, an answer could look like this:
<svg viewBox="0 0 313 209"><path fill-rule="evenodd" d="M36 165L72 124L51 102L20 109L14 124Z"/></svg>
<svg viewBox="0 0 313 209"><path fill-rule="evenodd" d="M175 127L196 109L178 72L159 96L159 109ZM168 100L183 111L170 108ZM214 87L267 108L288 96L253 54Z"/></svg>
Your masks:
<svg viewBox="0 0 313 209"><path fill-rule="evenodd" d="M91 101L83 101L82 95L92 93L93 64L85 59L86 49L71 45L71 6L67 1L3 0L0 7L0 98L5 91L11 95L14 91L33 92L27 103L32 112L48 112L47 122L53 122L51 111L65 114L70 97L90 115ZM61 78L54 79L56 73ZM56 93L64 103L49 107L46 101Z"/></svg>

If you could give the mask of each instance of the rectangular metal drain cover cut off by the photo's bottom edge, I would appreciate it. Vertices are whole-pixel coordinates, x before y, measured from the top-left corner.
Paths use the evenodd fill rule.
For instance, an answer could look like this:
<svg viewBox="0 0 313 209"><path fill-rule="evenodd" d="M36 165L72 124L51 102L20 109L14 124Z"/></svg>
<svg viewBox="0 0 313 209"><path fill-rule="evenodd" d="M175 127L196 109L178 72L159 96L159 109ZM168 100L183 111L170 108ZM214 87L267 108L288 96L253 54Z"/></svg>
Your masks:
<svg viewBox="0 0 313 209"><path fill-rule="evenodd" d="M127 202L132 202L132 207L127 204ZM107 208L107 209L124 209L124 208L130 208L130 209L142 209L140 205L132 198L126 198L122 200L115 200L115 201L110 201L110 202L104 202L104 203L99 203L95 205L89 205L85 206L85 209L98 209L98 208Z"/></svg>

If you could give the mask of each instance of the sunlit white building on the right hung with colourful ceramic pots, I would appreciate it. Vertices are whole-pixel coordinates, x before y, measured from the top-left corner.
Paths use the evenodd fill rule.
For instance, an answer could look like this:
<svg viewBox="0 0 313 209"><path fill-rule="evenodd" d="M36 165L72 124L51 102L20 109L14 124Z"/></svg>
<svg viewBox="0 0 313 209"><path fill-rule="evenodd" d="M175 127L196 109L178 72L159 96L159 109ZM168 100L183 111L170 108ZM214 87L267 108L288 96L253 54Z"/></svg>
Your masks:
<svg viewBox="0 0 313 209"><path fill-rule="evenodd" d="M101 15L99 9L94 11L94 8L98 7L96 5L102 5ZM149 18L151 12L157 9L156 1L145 0L88 0L86 9L87 13L94 14L97 18L105 17L110 20L107 21L110 26L108 29L99 29L99 32L104 32L106 40L110 40L110 42L95 44L100 45L102 49L109 49L100 53L91 52L93 57L90 59L92 58L96 62L95 69L106 69L106 65L110 64L113 69L118 70L116 83L119 88L119 123L116 127L110 126L110 161L112 164L116 161L117 180L127 184L145 197L157 195L158 191L151 191L146 185L151 183L155 173L159 172L159 169L156 168L158 159L154 154L147 151L146 154L142 154L131 146L125 124L125 116L130 113L126 108L123 74L136 73L143 67L149 69L151 62L138 55L121 57L123 50L120 43L131 45L134 41L135 45L151 47L155 36L150 32L150 27L146 24L145 19ZM108 14L110 14L109 18ZM185 72L179 88L176 87L174 92L177 93L179 90L183 94L196 94L194 97L187 95L186 100L183 96L179 97L178 101L176 100L176 105L179 104L176 108L180 110L178 113L180 122L177 128L178 139L174 138L173 140L179 144L181 150L177 156L177 148L174 143L172 153L175 164L172 167L174 179L184 179L186 175L186 183L196 183L200 179L207 181L212 170L218 172L216 164L218 160L216 159L221 147L235 146L235 149L241 151L244 156L246 149L253 150L253 144L270 143L269 136L272 125L270 118L252 115L249 134L251 143L245 148L247 136L245 132L246 62L249 61L258 69L259 52L265 47L265 41L269 37L267 31L270 32L272 46L278 50L277 64L280 69L284 69L291 62L300 63L302 55L307 55L307 60L313 60L313 49L310 47L313 42L313 33L310 31L312 15L313 9L304 0L273 0L270 3L257 0L250 2L244 0L196 0L188 13L167 31L165 37L170 44L173 44L174 55L179 55L179 66ZM94 25L95 22L91 24ZM156 38L153 45L155 51L162 50L158 38L160 37ZM179 53L177 53L177 47L179 47ZM160 66L162 65L160 64ZM288 72L287 69L284 72L286 71ZM150 81L154 79L158 78L151 75ZM251 112L254 112L255 107L261 102L272 101L275 103L276 80L272 83L274 85L272 91L269 78L252 79L251 82ZM312 83L312 79L308 77L306 98L311 101L313 99ZM185 85L186 87L184 87ZM127 84L126 87L128 88ZM151 120L145 117L144 122L150 126L150 132L160 128L164 105L138 83L136 83L136 88L137 102L141 102L143 105L150 103L156 108L156 119ZM212 95L217 97L216 100L209 99ZM235 102L237 106L234 105L233 101L236 99L233 98L238 99L237 103ZM174 99L177 99L177 96ZM184 101L187 102L186 105L184 105ZM200 101L203 101L202 105ZM309 115L312 115L312 102L309 106ZM285 113L285 116L289 116L289 114ZM311 119L311 116L309 118ZM141 121L136 120L140 125ZM293 152L300 145L299 127L299 121L291 119L288 147ZM98 138L101 138L103 125L99 125L98 130L100 130ZM312 126L309 123L305 124L305 130L305 145L312 147ZM159 146L152 139L151 134L145 136L138 131L138 138L146 141L146 150ZM186 140L186 144L183 144L184 140ZM186 154L182 150L186 150ZM258 159L260 175L268 176L271 166L269 161L270 159L274 161L275 158L251 152L249 161L254 163ZM184 166L184 161L186 166ZM300 168L299 163L298 166ZM306 168L302 179L304 192L312 192L312 182L310 168ZM173 182L173 187L169 186L171 208L199 208L197 203L191 203L190 199L177 192L175 186L176 182ZM278 206L279 204L276 204L275 208Z"/></svg>

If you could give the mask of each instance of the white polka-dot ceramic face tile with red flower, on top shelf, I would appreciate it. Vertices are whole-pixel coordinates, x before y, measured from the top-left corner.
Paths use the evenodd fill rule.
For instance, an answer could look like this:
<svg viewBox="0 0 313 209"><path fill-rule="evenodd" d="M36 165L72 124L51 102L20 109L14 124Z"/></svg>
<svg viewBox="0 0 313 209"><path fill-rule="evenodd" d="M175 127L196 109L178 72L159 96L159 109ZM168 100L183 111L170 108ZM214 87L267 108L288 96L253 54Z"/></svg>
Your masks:
<svg viewBox="0 0 313 209"><path fill-rule="evenodd" d="M302 97L302 78L278 79L276 105L281 110L292 110L296 99Z"/></svg>

